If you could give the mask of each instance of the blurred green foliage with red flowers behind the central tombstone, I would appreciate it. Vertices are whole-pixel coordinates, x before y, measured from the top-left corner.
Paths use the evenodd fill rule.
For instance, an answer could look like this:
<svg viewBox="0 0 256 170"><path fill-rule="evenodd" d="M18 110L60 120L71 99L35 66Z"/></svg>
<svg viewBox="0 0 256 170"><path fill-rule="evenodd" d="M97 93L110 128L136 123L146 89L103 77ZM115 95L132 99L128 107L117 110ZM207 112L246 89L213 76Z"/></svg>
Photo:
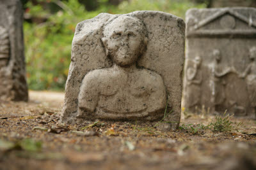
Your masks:
<svg viewBox="0 0 256 170"><path fill-rule="evenodd" d="M78 0L47 0L60 10L52 13L39 3L26 3L25 16L33 18L24 22L26 64L29 89L63 90L70 64L71 43L76 24L99 13L129 13L136 10L157 10L184 18L189 8L204 8L206 4L195 4L189 0L131 0L118 6L108 0L98 0L98 7L86 11Z"/></svg>

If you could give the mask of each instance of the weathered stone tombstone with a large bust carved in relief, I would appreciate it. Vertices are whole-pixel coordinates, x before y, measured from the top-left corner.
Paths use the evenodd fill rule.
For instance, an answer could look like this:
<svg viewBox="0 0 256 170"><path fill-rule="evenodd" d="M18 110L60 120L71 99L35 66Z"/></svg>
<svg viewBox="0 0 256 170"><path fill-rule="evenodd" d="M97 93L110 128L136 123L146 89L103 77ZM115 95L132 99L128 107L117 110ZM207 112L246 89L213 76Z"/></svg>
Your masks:
<svg viewBox="0 0 256 170"><path fill-rule="evenodd" d="M184 31L181 18L161 11L100 13L77 24L61 120L164 118L164 129L177 128Z"/></svg>

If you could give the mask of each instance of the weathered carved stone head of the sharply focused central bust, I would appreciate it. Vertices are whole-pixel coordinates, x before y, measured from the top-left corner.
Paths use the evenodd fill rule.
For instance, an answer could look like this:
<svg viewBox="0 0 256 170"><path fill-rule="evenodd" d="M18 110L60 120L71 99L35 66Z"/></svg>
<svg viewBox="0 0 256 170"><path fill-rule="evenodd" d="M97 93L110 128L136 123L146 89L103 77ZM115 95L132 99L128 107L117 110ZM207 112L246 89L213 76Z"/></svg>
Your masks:
<svg viewBox="0 0 256 170"><path fill-rule="evenodd" d="M136 17L114 18L105 25L103 35L106 55L122 67L131 66L147 48L147 29Z"/></svg>

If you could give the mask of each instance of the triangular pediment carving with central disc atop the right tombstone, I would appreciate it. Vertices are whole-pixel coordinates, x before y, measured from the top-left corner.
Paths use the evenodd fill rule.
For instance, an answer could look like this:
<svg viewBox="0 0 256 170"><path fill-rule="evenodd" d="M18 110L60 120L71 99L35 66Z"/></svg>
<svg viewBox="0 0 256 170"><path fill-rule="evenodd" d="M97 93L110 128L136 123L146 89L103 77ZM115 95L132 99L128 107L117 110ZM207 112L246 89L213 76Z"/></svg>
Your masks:
<svg viewBox="0 0 256 170"><path fill-rule="evenodd" d="M255 36L256 21L252 15L245 17L233 10L222 10L214 13L189 29L188 36Z"/></svg>

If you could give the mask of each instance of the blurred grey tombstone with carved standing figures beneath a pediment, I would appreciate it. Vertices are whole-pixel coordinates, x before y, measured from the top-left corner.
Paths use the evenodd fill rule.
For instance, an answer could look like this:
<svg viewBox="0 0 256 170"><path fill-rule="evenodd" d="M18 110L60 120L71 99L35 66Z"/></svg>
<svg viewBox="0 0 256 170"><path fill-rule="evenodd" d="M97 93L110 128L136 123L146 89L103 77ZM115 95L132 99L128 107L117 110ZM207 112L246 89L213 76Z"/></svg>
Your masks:
<svg viewBox="0 0 256 170"><path fill-rule="evenodd" d="M256 9L191 9L186 25L182 106L255 117Z"/></svg>

